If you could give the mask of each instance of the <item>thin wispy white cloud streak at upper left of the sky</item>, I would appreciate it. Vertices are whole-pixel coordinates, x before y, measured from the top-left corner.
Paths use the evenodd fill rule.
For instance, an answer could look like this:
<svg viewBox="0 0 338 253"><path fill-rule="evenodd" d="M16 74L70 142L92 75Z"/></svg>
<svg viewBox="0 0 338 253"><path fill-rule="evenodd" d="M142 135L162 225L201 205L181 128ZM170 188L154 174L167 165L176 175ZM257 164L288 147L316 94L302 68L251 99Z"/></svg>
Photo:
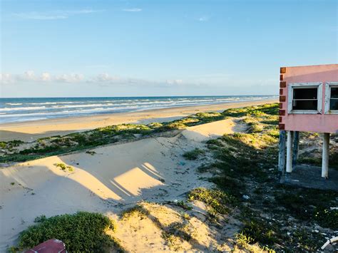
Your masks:
<svg viewBox="0 0 338 253"><path fill-rule="evenodd" d="M12 14L18 19L34 19L34 20L54 20L54 19L68 19L70 16L83 15L83 14L93 14L97 12L102 12L105 10L93 10L93 9L81 9L74 11L46 11L46 12L23 12Z"/></svg>

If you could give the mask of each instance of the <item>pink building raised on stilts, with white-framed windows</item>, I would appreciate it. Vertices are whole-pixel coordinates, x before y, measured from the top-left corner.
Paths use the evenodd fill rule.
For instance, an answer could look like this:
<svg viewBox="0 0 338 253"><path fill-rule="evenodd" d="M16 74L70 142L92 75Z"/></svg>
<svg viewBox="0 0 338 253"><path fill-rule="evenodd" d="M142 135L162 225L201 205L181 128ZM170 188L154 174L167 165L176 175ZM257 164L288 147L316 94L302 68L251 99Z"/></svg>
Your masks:
<svg viewBox="0 0 338 253"><path fill-rule="evenodd" d="M297 156L299 131L324 133L322 177L328 177L329 134L338 133L338 64L280 68L282 171L285 167L285 131L287 172L292 172L292 155Z"/></svg>

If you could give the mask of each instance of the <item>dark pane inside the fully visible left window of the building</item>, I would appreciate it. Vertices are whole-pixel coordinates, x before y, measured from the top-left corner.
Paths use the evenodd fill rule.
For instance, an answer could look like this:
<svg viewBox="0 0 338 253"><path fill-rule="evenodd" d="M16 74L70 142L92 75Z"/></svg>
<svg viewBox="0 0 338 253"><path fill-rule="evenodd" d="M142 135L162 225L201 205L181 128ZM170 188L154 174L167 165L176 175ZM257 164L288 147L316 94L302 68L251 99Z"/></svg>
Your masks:
<svg viewBox="0 0 338 253"><path fill-rule="evenodd" d="M317 110L318 88L294 88L292 110Z"/></svg>

